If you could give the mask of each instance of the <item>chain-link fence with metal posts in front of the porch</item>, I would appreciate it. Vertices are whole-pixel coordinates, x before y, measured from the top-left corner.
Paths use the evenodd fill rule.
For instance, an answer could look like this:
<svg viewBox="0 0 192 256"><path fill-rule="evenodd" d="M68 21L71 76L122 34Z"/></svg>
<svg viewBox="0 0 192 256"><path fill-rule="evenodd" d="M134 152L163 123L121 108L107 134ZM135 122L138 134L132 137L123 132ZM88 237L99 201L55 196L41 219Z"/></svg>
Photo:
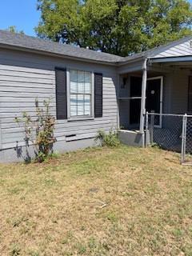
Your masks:
<svg viewBox="0 0 192 256"><path fill-rule="evenodd" d="M146 146L181 153L181 162L192 164L192 116L146 113Z"/></svg>

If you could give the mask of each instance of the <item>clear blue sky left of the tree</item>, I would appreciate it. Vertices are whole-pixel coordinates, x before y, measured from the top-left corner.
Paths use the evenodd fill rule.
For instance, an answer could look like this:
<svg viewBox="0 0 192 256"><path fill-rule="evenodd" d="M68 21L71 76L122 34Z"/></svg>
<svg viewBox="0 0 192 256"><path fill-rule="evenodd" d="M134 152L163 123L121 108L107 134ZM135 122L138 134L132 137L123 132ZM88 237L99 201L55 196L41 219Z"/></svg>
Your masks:
<svg viewBox="0 0 192 256"><path fill-rule="evenodd" d="M189 0L192 3L192 0ZM0 29L16 26L25 34L35 35L34 27L38 26L40 12L37 0L0 0Z"/></svg>

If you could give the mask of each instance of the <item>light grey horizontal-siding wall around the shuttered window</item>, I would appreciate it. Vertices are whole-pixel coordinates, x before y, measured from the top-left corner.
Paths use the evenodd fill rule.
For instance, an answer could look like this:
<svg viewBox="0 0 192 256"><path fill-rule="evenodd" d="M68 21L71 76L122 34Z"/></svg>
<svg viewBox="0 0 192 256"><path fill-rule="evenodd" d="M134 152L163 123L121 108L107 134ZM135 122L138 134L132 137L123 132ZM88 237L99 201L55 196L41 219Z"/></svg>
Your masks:
<svg viewBox="0 0 192 256"><path fill-rule="evenodd" d="M90 70L103 74L103 116L93 120L59 120L55 126L60 152L93 146L99 129L118 127L117 87L118 77L114 66L76 62L65 58L26 54L14 50L0 50L0 162L19 160L18 150L25 154L22 146L25 134L15 117L22 117L23 111L34 116L34 100L40 104L51 98L51 114L56 116L55 66ZM76 134L66 138L66 135ZM19 154L20 155L20 154ZM20 156L22 160L22 157Z"/></svg>

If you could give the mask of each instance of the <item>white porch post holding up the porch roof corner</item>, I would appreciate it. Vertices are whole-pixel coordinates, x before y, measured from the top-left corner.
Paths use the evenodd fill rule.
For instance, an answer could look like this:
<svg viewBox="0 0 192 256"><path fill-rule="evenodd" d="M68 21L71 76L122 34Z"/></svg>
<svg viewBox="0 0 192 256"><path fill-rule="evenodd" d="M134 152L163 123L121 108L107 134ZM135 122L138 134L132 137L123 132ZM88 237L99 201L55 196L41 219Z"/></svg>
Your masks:
<svg viewBox="0 0 192 256"><path fill-rule="evenodd" d="M146 114L146 78L147 78L147 70L146 70L147 58L143 62L142 66L142 99L141 99L141 114L140 114L140 133L144 134L144 122L145 122L145 114ZM144 145L144 136L143 136L143 145Z"/></svg>

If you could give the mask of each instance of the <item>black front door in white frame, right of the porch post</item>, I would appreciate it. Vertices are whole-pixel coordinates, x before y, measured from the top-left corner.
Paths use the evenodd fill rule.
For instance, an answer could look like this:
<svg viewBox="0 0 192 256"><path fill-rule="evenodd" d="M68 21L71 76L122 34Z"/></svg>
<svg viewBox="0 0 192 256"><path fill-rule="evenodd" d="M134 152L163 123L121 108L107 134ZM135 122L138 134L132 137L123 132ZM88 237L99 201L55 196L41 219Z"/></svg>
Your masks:
<svg viewBox="0 0 192 256"><path fill-rule="evenodd" d="M148 78L146 85L146 111L162 113L162 77ZM154 124L162 126L162 117L155 116Z"/></svg>

